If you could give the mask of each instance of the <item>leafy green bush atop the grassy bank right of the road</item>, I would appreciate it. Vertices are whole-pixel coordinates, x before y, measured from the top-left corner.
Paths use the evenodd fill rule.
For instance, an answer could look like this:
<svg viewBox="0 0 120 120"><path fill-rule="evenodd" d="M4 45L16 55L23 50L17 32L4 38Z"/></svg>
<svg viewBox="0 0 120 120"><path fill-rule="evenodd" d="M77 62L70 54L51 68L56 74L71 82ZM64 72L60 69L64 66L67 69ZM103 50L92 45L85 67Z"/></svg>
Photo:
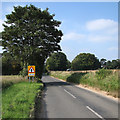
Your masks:
<svg viewBox="0 0 120 120"><path fill-rule="evenodd" d="M103 68L96 72L96 77L98 80L102 80L106 78L106 76L109 76L111 73L112 71Z"/></svg>

